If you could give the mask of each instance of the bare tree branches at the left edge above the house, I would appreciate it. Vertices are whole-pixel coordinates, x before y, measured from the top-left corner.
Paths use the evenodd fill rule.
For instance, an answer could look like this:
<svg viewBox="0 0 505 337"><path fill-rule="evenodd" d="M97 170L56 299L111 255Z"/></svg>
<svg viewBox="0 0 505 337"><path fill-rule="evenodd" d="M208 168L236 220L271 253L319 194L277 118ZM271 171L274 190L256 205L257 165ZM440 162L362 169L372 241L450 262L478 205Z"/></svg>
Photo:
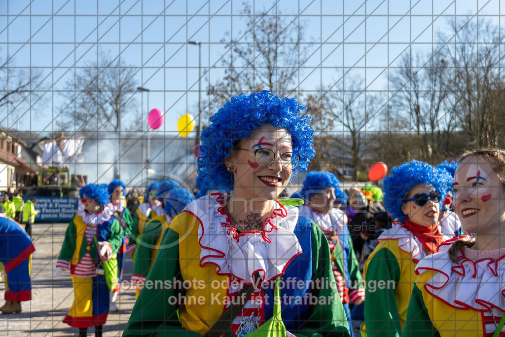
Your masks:
<svg viewBox="0 0 505 337"><path fill-rule="evenodd" d="M13 120L20 117L21 109L26 107L29 111L30 98L32 102L37 102L40 99L42 90L38 88L40 85L41 74L35 68L23 70L14 67L13 60L8 57L7 60L0 59L0 111L7 110L7 114L2 114L5 117L0 119L0 124L7 121L7 117L11 116ZM21 108L22 107L22 108Z"/></svg>

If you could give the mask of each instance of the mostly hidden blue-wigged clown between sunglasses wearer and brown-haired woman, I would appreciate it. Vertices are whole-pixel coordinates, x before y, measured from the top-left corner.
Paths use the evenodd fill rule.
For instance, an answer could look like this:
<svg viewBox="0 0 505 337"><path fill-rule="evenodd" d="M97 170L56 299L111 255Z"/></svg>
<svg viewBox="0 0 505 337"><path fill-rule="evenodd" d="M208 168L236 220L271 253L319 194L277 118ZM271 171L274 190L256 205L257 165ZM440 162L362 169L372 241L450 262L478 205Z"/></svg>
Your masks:
<svg viewBox="0 0 505 337"><path fill-rule="evenodd" d="M437 166L437 168L444 169L449 172L452 177L454 177L457 167L458 162L448 162L446 160ZM440 209L440 223L438 224L440 232L450 237L463 235L460 217L452 208L453 195L452 186L446 186L446 196L442 202L442 207Z"/></svg>

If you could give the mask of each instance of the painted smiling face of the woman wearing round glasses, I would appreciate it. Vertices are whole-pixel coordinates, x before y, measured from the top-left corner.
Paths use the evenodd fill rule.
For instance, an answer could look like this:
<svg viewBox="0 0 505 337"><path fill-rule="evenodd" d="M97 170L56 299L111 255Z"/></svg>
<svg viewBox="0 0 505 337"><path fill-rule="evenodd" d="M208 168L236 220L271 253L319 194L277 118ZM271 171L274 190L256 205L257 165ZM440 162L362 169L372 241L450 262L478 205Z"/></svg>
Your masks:
<svg viewBox="0 0 505 337"><path fill-rule="evenodd" d="M240 149L226 160L227 166L234 165L233 195L235 198L274 200L287 186L293 170L281 165L280 156L293 151L290 134L281 127L271 124L262 125L259 129L238 146ZM254 152L247 150L270 149L276 153L269 166L256 163Z"/></svg>

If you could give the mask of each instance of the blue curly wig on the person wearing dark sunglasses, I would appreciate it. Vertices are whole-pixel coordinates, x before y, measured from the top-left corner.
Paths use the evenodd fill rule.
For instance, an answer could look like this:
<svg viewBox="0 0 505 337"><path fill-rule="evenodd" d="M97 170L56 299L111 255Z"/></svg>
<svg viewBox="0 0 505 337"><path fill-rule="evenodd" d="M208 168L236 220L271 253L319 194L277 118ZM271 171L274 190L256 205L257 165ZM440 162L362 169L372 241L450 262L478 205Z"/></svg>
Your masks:
<svg viewBox="0 0 505 337"><path fill-rule="evenodd" d="M403 199L409 191L418 184L433 186L439 190L443 201L446 194L446 186L452 184L452 177L449 172L431 166L426 162L412 160L410 163L403 163L398 167L393 167L391 174L384 179L384 205L392 218L405 221L406 215L401 210Z"/></svg>

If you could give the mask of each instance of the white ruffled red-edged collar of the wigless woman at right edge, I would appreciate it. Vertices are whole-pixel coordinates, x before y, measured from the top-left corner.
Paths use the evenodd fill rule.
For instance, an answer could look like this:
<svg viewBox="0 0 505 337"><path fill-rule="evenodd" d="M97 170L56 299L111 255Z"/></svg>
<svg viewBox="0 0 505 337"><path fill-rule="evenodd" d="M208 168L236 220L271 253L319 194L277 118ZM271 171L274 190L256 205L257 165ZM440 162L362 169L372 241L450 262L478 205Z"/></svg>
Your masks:
<svg viewBox="0 0 505 337"><path fill-rule="evenodd" d="M443 253L430 255L416 266L416 274L436 272L425 283L425 290L456 309L505 312L505 254L497 259L471 260L463 249L454 263L446 253L453 241L440 246ZM479 253L486 255L485 251Z"/></svg>

